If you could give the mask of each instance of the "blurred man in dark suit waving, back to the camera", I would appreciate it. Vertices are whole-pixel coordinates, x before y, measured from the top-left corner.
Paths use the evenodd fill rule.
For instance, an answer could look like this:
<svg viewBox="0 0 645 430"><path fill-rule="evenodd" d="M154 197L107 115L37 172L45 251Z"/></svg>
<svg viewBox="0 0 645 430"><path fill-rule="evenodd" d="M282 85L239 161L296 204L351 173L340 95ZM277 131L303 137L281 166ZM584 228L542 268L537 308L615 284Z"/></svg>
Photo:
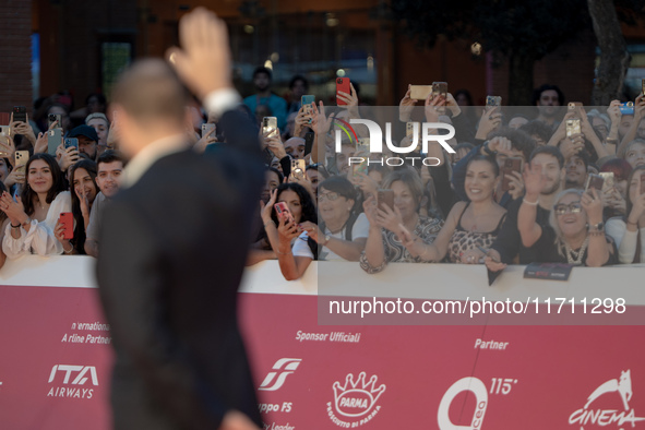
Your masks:
<svg viewBox="0 0 645 430"><path fill-rule="evenodd" d="M227 130L214 155L188 150L187 95L172 70L144 60L115 88L130 163L101 230L98 282L110 323L117 429L259 429L237 325L237 288L264 172L230 81L225 24L196 9L169 59Z"/></svg>

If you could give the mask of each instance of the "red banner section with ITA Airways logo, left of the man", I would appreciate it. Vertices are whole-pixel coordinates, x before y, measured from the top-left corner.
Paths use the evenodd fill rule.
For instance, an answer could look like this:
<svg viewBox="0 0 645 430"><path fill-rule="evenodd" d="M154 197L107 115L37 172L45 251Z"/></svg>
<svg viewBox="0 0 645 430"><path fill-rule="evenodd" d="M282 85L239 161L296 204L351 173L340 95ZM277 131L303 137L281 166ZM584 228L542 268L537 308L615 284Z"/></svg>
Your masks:
<svg viewBox="0 0 645 430"><path fill-rule="evenodd" d="M109 429L109 326L96 289L0 287L0 428Z"/></svg>

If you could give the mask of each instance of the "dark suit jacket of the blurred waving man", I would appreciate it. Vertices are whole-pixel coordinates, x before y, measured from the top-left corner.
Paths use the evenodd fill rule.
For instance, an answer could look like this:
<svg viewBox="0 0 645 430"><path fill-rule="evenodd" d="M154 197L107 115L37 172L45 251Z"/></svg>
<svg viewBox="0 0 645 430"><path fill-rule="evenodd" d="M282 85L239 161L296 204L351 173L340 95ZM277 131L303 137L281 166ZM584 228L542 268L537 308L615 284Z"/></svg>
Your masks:
<svg viewBox="0 0 645 430"><path fill-rule="evenodd" d="M229 409L261 427L237 289L264 180L252 124L227 144L156 162L106 210L97 264L116 363L117 429L217 429Z"/></svg>

